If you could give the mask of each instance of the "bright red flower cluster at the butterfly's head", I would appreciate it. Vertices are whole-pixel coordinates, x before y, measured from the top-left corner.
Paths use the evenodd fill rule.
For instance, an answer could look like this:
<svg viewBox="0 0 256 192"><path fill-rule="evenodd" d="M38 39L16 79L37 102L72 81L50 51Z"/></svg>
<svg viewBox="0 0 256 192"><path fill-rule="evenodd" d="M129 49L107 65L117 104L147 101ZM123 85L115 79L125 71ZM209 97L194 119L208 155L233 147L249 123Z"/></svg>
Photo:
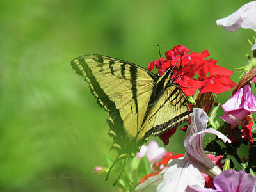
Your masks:
<svg viewBox="0 0 256 192"><path fill-rule="evenodd" d="M168 68L173 69L173 76L177 77L175 83L179 84L185 95L192 96L196 89L200 89L200 94L212 92L220 94L236 86L229 77L233 74L216 65L217 60L205 59L210 56L207 50L202 53L191 52L184 45L177 45L173 49L166 51L165 58L159 58L148 65L148 70L152 71L154 67L158 69L161 76ZM195 77L195 74L198 77Z"/></svg>

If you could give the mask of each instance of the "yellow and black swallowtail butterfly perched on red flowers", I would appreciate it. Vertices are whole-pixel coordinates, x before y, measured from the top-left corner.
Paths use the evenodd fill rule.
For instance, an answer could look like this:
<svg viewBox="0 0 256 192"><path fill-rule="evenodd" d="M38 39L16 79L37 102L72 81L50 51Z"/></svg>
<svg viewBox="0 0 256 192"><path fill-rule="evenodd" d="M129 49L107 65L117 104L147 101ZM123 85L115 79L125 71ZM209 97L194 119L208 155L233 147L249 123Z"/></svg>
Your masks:
<svg viewBox="0 0 256 192"><path fill-rule="evenodd" d="M106 180L121 159L123 172L128 159L150 136L159 136L188 118L188 99L173 83L172 69L159 77L139 65L97 54L75 58L71 65L88 82L99 106L108 111L108 134L114 140L111 150L118 154Z"/></svg>

